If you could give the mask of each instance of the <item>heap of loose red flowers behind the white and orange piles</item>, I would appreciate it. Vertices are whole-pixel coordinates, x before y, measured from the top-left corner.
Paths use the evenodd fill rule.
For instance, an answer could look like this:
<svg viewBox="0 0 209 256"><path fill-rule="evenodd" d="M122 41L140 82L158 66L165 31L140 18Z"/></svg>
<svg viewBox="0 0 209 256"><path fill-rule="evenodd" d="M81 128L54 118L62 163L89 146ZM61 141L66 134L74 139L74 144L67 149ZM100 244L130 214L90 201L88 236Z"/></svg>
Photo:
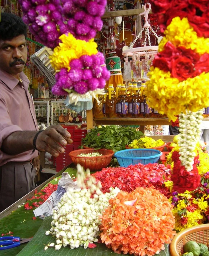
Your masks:
<svg viewBox="0 0 209 256"><path fill-rule="evenodd" d="M127 168L107 168L101 172L92 174L101 181L102 192L110 192L110 187L118 187L120 190L131 192L136 187L152 187L159 190L166 197L171 193L164 182L170 180L170 169L163 164L130 165Z"/></svg>

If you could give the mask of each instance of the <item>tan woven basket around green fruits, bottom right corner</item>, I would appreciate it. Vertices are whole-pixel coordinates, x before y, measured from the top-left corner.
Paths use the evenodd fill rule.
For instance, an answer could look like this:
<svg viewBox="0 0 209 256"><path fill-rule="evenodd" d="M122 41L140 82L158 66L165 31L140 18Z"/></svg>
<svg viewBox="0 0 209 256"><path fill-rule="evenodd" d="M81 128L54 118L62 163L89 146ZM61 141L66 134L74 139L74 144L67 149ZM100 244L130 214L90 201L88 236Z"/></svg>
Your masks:
<svg viewBox="0 0 209 256"><path fill-rule="evenodd" d="M171 256L180 256L184 253L183 246L188 241L195 241L209 246L209 224L186 228L179 232L170 244Z"/></svg>

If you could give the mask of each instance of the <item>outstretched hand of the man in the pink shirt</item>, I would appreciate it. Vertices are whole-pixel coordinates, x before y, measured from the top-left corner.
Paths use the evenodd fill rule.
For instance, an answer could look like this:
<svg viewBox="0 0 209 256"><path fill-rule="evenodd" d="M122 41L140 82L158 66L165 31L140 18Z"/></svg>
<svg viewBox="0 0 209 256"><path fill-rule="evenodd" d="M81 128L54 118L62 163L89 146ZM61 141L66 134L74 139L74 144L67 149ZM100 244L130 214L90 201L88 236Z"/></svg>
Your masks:
<svg viewBox="0 0 209 256"><path fill-rule="evenodd" d="M67 144L72 144L70 133L61 125L51 125L43 132L39 133L36 140L36 148L39 151L46 151L52 156L59 156L64 153L64 148Z"/></svg>

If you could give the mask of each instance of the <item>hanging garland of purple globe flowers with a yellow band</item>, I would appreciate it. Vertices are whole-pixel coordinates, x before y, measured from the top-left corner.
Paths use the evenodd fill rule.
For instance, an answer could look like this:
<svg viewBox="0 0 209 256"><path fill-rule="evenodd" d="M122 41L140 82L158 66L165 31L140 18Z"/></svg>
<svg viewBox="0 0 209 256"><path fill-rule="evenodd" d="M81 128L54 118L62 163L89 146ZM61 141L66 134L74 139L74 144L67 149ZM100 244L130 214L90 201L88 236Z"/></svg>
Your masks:
<svg viewBox="0 0 209 256"><path fill-rule="evenodd" d="M23 20L38 42L54 49L51 64L56 71L55 95L68 95L68 103L96 97L110 73L94 42L101 30L106 0L20 0ZM82 96L80 96L82 95Z"/></svg>

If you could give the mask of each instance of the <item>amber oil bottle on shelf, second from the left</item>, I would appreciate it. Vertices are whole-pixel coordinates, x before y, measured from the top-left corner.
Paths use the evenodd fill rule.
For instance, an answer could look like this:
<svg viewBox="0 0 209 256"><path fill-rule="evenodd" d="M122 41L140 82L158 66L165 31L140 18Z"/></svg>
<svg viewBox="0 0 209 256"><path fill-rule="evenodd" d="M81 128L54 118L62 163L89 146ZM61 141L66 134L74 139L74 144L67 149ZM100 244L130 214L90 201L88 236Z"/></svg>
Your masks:
<svg viewBox="0 0 209 256"><path fill-rule="evenodd" d="M116 117L116 95L113 84L107 88L107 96L105 101L105 115L106 117Z"/></svg>

